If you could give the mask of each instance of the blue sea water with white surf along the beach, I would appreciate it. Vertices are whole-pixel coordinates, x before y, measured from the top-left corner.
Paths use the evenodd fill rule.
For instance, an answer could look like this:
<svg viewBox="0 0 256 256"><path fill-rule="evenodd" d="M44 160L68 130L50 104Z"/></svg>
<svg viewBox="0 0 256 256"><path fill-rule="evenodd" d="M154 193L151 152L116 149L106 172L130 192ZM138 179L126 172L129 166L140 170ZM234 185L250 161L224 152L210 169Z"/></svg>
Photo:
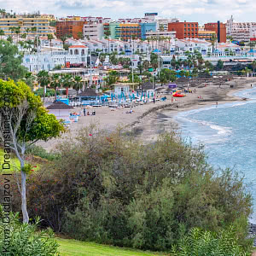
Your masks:
<svg viewBox="0 0 256 256"><path fill-rule="evenodd" d="M183 137L205 145L212 166L234 168L244 175L253 195L250 221L256 224L256 87L235 95L250 100L178 113L174 119Z"/></svg>

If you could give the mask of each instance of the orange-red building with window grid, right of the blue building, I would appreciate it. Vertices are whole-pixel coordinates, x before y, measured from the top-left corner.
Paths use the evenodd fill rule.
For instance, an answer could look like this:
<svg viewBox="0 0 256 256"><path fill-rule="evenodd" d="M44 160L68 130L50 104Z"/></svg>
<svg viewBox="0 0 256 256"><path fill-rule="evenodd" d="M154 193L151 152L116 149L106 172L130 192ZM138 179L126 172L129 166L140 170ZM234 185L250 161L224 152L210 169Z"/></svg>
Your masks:
<svg viewBox="0 0 256 256"><path fill-rule="evenodd" d="M168 23L168 31L176 32L177 39L198 38L198 22Z"/></svg>

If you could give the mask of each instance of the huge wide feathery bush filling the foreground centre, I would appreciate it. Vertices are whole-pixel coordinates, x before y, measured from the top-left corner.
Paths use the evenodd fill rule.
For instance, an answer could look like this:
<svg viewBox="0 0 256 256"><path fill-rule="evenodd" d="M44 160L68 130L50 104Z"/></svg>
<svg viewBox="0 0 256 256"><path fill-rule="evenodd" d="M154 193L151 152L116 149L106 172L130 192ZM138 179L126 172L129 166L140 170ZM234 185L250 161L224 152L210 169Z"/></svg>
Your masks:
<svg viewBox="0 0 256 256"><path fill-rule="evenodd" d="M96 126L63 143L60 157L29 177L31 216L80 240L168 250L193 227L230 224L247 246L251 197L242 178L207 165L177 135L143 145ZM50 170L50 172L49 172Z"/></svg>

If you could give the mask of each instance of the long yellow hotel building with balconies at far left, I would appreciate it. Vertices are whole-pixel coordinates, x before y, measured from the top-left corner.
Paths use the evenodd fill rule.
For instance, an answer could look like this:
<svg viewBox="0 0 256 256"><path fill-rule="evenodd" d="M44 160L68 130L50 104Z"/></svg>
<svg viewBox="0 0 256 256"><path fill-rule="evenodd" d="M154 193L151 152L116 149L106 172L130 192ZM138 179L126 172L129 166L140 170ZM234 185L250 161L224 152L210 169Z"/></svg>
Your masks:
<svg viewBox="0 0 256 256"><path fill-rule="evenodd" d="M37 31L32 31L33 27L38 28L39 36L47 36L48 34L53 34L52 30L49 28L49 18L38 17L38 18L2 18L0 19L0 29L3 30L4 34L9 36L13 32L10 30L11 27L20 26L20 35L26 33L28 36L35 36Z"/></svg>

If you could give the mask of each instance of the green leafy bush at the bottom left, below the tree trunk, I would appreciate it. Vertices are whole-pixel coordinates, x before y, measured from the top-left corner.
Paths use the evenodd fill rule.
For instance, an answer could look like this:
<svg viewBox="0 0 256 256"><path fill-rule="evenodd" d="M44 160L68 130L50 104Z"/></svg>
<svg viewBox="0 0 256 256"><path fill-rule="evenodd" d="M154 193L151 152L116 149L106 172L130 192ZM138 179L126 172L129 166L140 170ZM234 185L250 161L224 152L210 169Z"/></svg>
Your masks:
<svg viewBox="0 0 256 256"><path fill-rule="evenodd" d="M3 207L1 206L1 218ZM18 213L10 214L9 223L0 224L0 255L54 256L58 255L58 244L52 230L38 231L39 219L35 224L21 224ZM8 252L8 253L6 253Z"/></svg>

